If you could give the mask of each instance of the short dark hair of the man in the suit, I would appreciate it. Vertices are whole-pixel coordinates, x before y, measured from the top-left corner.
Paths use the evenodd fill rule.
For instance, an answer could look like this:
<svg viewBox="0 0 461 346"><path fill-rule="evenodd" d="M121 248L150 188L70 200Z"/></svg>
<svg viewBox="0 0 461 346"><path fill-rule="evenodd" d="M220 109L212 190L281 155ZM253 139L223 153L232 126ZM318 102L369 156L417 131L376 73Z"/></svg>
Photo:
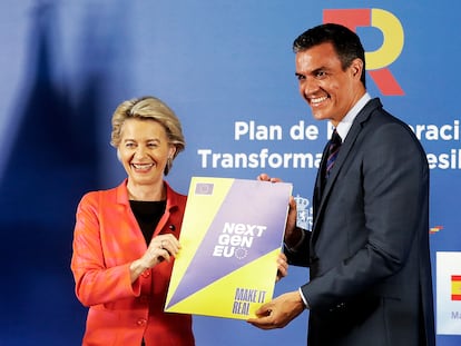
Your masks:
<svg viewBox="0 0 461 346"><path fill-rule="evenodd" d="M293 51L295 53L307 50L314 46L330 42L333 45L337 57L341 60L343 70L349 68L356 58L363 61L363 70L361 81L365 85L365 51L359 36L346 27L325 23L300 34L293 42Z"/></svg>

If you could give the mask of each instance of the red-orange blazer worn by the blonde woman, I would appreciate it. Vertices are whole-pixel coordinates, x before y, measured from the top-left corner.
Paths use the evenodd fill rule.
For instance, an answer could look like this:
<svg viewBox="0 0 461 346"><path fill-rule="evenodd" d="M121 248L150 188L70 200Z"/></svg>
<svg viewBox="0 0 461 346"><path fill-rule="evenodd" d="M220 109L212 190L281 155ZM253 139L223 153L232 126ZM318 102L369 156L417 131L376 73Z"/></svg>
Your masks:
<svg viewBox="0 0 461 346"><path fill-rule="evenodd" d="M89 307L82 345L194 345L192 316L164 313L173 261L146 270L131 285L129 265L147 249L128 200L127 180L85 195L77 209L71 269L76 295ZM167 204L154 237L179 237L186 196L167 182Z"/></svg>

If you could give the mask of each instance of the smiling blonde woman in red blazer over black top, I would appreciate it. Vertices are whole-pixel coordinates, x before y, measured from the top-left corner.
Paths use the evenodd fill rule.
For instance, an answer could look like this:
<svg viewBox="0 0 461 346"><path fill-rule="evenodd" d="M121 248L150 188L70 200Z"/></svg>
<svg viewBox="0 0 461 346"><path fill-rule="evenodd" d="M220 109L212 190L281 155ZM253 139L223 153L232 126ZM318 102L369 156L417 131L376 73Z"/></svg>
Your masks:
<svg viewBox="0 0 461 346"><path fill-rule="evenodd" d="M89 307L82 345L194 345L192 316L164 313L186 196L164 180L185 140L164 102L144 97L112 116L111 145L128 178L77 209L71 269Z"/></svg>

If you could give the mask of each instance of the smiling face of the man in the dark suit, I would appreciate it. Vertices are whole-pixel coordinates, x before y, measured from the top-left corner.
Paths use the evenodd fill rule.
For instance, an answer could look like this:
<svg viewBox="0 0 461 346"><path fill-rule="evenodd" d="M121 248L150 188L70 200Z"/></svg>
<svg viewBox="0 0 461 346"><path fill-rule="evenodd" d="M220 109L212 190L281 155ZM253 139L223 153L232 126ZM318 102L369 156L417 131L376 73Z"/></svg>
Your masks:
<svg viewBox="0 0 461 346"><path fill-rule="evenodd" d="M328 119L336 126L344 118L364 92L362 68L362 60L355 59L343 71L330 42L296 53L300 92L315 119Z"/></svg>

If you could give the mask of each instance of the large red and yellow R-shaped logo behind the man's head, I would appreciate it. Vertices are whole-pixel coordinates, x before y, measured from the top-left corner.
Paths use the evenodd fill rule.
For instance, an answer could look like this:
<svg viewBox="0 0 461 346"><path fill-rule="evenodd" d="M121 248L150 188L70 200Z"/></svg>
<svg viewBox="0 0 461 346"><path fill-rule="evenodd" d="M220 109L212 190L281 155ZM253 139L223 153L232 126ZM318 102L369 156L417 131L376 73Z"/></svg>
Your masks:
<svg viewBox="0 0 461 346"><path fill-rule="evenodd" d="M403 49L403 27L393 13L382 9L325 9L323 22L343 24L356 31L357 27L373 27L381 30L383 43L375 51L366 51L366 70L381 93L386 96L404 95L388 66L394 62Z"/></svg>

